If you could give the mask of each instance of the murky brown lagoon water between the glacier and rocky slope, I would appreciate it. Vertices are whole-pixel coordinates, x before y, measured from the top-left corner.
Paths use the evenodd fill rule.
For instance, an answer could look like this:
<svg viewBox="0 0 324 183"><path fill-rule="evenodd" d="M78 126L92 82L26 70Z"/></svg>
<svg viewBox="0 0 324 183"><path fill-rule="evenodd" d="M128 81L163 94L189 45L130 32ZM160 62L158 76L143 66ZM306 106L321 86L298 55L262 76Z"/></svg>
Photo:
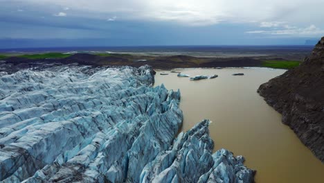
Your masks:
<svg viewBox="0 0 324 183"><path fill-rule="evenodd" d="M177 73L157 71L155 85L180 89L183 131L202 119L210 119L215 149L226 148L246 158L257 171L255 182L324 182L322 164L256 92L282 69L179 69L190 76L218 78L192 81ZM160 73L169 73L161 76ZM244 76L232 76L244 73Z"/></svg>

